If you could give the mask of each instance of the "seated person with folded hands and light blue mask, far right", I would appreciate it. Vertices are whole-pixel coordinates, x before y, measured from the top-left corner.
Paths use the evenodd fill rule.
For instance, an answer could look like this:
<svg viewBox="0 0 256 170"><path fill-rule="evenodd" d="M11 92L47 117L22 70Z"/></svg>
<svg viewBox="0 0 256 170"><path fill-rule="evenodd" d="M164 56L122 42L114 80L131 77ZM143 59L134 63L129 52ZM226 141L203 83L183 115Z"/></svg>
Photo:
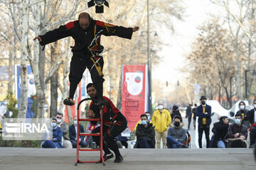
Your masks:
<svg viewBox="0 0 256 170"><path fill-rule="evenodd" d="M228 127L228 147L246 147L247 135L247 127L242 125L242 115L238 113L235 115L235 123Z"/></svg>

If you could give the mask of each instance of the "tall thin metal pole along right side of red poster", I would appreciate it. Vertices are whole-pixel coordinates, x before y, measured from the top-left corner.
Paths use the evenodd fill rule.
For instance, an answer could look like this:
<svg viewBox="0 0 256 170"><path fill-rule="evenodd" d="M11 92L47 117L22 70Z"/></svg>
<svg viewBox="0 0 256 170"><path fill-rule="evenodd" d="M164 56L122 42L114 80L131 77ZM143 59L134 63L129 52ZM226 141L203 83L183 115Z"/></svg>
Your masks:
<svg viewBox="0 0 256 170"><path fill-rule="evenodd" d="M151 58L150 58L150 50L149 50L149 0L146 0L147 6L147 50L148 50L148 74L149 74L149 113L152 114L152 103L151 103Z"/></svg>

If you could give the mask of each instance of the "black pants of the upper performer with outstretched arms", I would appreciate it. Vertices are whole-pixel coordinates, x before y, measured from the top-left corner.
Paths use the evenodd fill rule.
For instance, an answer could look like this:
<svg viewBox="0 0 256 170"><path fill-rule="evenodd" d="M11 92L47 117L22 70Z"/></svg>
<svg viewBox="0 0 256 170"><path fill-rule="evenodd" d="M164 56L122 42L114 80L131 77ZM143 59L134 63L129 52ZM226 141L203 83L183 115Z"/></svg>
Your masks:
<svg viewBox="0 0 256 170"><path fill-rule="evenodd" d="M72 60L70 62L70 94L69 97L73 98L75 94L75 89L79 82L82 79L82 74L85 72L85 69L89 69L92 83L95 85L95 89L97 90L98 98L102 98L103 91L103 58L102 57L90 57L87 55L83 55L82 52L74 52Z"/></svg>

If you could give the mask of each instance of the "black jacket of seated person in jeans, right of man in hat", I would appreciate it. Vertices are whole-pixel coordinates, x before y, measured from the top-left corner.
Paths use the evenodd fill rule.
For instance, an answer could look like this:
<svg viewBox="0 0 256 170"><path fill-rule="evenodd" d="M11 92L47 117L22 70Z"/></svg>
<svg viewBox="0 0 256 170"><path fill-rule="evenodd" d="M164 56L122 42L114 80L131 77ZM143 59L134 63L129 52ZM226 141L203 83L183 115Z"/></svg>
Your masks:
<svg viewBox="0 0 256 170"><path fill-rule="evenodd" d="M225 141L225 139L228 138L228 124L224 124L223 122L214 123L213 129L215 130L213 147L217 147L219 140Z"/></svg>

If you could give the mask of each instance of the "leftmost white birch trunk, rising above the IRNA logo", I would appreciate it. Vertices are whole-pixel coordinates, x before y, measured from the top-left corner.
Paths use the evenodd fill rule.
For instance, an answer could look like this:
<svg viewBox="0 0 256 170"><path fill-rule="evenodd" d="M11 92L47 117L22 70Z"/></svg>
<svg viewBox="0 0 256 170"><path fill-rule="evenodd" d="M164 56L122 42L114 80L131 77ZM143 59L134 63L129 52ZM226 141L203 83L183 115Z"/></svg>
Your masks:
<svg viewBox="0 0 256 170"><path fill-rule="evenodd" d="M28 107L28 0L22 1L22 53L21 53L21 98L19 101L18 118L26 118Z"/></svg>

